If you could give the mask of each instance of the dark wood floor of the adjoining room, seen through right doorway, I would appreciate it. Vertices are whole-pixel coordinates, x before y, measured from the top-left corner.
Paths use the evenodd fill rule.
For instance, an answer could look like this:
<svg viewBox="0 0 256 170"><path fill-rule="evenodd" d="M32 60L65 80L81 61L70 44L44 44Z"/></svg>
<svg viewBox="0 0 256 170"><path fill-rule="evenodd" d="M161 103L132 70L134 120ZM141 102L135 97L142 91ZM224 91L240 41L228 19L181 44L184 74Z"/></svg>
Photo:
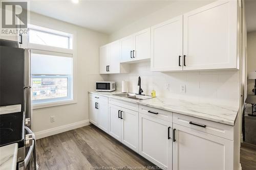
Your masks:
<svg viewBox="0 0 256 170"><path fill-rule="evenodd" d="M241 143L240 162L242 170L256 170L256 145Z"/></svg>

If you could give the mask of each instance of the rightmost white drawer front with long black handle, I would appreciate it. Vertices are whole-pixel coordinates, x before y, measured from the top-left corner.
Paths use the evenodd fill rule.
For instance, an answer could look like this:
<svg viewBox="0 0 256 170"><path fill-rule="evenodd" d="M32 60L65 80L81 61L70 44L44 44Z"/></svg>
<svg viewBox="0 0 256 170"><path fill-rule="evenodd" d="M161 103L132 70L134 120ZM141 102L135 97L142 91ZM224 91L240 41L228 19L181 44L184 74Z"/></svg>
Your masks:
<svg viewBox="0 0 256 170"><path fill-rule="evenodd" d="M208 134L216 135L225 139L233 140L233 127L211 122L208 120L186 116L178 113L173 114L173 123L191 129L199 130Z"/></svg>

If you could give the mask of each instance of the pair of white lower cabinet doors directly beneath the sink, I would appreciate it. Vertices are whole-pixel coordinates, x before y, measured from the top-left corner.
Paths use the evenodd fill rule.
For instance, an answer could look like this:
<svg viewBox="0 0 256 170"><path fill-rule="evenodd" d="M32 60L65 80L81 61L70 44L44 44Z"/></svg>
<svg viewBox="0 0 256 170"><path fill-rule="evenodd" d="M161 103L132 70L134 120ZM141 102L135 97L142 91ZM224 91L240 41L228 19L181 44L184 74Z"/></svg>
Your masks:
<svg viewBox="0 0 256 170"><path fill-rule="evenodd" d="M138 152L138 112L109 105L109 134Z"/></svg>

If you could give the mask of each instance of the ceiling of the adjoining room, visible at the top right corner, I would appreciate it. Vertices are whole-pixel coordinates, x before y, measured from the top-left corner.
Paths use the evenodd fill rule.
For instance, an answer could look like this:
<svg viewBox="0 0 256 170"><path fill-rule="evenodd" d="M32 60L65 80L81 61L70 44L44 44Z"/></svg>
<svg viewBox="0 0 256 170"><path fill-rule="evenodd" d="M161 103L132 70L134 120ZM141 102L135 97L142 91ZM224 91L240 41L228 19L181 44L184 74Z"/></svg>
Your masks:
<svg viewBox="0 0 256 170"><path fill-rule="evenodd" d="M256 31L256 0L245 1L247 32Z"/></svg>

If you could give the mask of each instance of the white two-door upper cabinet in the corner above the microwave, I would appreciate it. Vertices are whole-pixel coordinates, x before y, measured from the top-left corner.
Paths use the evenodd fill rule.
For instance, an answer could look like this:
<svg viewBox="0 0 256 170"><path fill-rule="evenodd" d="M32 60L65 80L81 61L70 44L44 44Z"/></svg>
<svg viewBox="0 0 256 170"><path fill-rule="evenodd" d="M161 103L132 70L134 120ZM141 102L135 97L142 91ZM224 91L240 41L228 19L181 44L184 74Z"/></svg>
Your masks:
<svg viewBox="0 0 256 170"><path fill-rule="evenodd" d="M114 41L99 48L99 73L127 73L130 66L120 64L120 41Z"/></svg>

